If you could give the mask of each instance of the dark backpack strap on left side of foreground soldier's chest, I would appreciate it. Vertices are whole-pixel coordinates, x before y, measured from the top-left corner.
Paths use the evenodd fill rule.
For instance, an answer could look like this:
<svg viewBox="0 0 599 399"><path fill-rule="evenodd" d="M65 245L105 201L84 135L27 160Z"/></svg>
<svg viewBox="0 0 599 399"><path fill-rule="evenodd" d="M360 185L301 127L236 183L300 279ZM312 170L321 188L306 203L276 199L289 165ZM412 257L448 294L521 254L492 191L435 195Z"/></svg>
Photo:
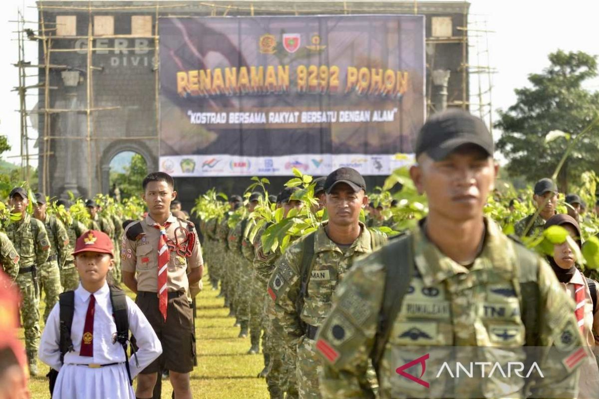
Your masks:
<svg viewBox="0 0 599 399"><path fill-rule="evenodd" d="M370 357L374 369L379 374L380 361L385 352L385 345L391 335L391 327L401 310L404 296L410 287L415 270L412 249L412 235L401 234L380 249L385 264L385 291L379 313L374 345Z"/></svg>

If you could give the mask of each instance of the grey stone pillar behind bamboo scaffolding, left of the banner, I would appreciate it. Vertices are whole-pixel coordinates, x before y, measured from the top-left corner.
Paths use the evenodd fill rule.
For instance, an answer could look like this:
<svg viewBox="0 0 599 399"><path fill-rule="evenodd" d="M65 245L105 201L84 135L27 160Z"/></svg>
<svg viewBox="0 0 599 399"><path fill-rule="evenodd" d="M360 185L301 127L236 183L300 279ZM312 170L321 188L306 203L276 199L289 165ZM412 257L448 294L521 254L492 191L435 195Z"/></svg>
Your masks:
<svg viewBox="0 0 599 399"><path fill-rule="evenodd" d="M79 71L62 71L60 75L66 87L66 105L69 109L78 109L77 85L79 84ZM71 138L80 135L78 112L66 112L63 115L66 117L65 135L69 138L66 139L65 188L60 197L68 199L68 191L71 191L75 197L81 195L77 185L77 170L75 170L75 167L80 167L80 162L78 162L80 151L78 150L81 146L78 142L80 140Z"/></svg>

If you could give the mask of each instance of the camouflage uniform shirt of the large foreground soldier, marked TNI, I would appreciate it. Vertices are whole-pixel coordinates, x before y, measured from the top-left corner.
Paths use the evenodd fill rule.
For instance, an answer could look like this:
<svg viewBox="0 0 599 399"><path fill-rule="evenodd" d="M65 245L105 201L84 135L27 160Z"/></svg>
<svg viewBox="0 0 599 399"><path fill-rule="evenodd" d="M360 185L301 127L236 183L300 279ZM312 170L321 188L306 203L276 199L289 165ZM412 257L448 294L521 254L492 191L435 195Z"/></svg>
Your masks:
<svg viewBox="0 0 599 399"><path fill-rule="evenodd" d="M434 370L439 360L433 355L426 364L427 372L435 378L429 389L398 375L397 366L427 352L444 350L438 347L555 345L560 349L565 343L572 348L582 345L576 333L574 303L561 289L552 269L533 252L516 248L519 244L501 233L493 221L486 219L486 226L482 252L469 268L442 254L420 227L411 230L415 270L401 310L390 320L391 338L379 363L377 397L498 397L497 392L506 388L499 386L503 381L495 379L486 379L485 383L467 379L470 382L462 380L461 384L444 381L443 376L437 380ZM386 268L394 266L386 263L389 258L383 254L394 248L393 259L401 261L407 256L398 252L397 241L392 240L386 248L356 261L333 296L332 310L322 322L316 343L322 357L320 392L324 398L374 398L373 390L365 383L365 364L379 322ZM526 291L535 293L538 300L524 294L523 287L532 287ZM529 301L538 307L525 312ZM523 321L521 316L530 314L533 318ZM507 358L518 360L515 355ZM536 380L530 397L575 397L574 366L567 370L561 361L540 366L544 379ZM420 377L426 380L426 376L431 374ZM435 382L448 385L436 391ZM478 395L480 390L483 392ZM513 394L501 397L527 397L526 389L517 389Z"/></svg>

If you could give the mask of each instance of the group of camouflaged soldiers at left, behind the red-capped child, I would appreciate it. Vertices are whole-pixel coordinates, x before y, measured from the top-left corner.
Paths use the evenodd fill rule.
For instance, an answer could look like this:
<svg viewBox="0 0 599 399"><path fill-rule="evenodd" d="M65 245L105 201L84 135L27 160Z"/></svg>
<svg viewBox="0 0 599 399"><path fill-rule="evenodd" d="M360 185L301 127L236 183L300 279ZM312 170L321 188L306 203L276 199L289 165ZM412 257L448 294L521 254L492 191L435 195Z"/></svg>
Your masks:
<svg viewBox="0 0 599 399"><path fill-rule="evenodd" d="M87 226L74 218L60 220L49 214L49 203L43 193L33 196L33 214L27 212L30 197L22 187L9 194L8 205L18 220L11 221L0 232L2 267L19 286L22 296L20 306L25 330L25 349L29 372L37 375L37 351L40 342L40 297L46 297L44 321L63 291L75 290L79 277L72 256L74 243L87 230L101 230L108 234L115 248L120 244L122 222L117 215L108 219L98 214L99 205L93 200L85 203L89 218ZM57 206L69 202L58 200ZM66 223L65 223L66 222ZM118 259L118 258L117 258ZM113 269L113 279L120 281L120 265Z"/></svg>

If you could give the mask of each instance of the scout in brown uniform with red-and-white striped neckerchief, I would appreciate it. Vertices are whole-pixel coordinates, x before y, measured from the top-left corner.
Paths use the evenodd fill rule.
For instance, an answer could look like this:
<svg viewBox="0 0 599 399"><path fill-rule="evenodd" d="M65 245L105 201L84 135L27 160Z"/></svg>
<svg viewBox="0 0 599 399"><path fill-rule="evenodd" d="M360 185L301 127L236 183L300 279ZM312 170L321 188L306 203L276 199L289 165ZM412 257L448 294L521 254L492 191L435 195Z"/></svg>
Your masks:
<svg viewBox="0 0 599 399"><path fill-rule="evenodd" d="M140 399L152 397L162 362L170 370L175 397L190 399L195 331L187 290L202 278L198 234L192 223L171 215L170 205L177 196L171 176L150 173L143 189L149 212L145 220L131 223L125 230L123 282L137 293L135 302L156 331L164 359L141 371L136 395Z"/></svg>

